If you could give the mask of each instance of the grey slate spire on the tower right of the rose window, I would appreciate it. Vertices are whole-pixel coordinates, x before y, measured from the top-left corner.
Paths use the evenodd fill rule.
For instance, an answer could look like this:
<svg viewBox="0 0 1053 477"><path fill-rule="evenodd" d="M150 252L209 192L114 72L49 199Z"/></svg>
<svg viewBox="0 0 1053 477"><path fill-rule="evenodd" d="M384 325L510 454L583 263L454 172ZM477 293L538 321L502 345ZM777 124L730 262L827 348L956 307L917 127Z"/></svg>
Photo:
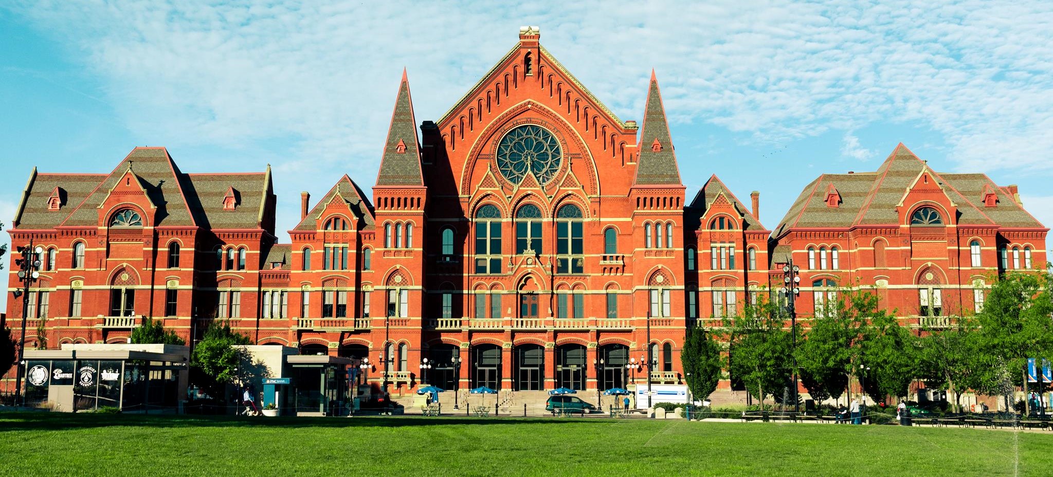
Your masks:
<svg viewBox="0 0 1053 477"><path fill-rule="evenodd" d="M676 154L673 152L673 140L669 135L669 122L665 120L665 107L662 105L661 93L658 91L658 79L651 69L651 87L648 90L648 103L643 110L643 127L640 128L641 147L636 180L638 185L672 185L680 184L680 171L676 164Z"/></svg>

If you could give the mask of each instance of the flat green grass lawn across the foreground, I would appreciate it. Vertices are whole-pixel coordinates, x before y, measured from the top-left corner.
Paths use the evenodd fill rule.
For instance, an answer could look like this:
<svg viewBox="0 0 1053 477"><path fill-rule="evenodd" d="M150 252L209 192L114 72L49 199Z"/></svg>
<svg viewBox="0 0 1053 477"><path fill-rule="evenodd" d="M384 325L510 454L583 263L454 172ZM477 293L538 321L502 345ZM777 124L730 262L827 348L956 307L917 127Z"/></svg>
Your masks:
<svg viewBox="0 0 1053 477"><path fill-rule="evenodd" d="M0 475L1051 475L1053 433L464 417L0 414Z"/></svg>

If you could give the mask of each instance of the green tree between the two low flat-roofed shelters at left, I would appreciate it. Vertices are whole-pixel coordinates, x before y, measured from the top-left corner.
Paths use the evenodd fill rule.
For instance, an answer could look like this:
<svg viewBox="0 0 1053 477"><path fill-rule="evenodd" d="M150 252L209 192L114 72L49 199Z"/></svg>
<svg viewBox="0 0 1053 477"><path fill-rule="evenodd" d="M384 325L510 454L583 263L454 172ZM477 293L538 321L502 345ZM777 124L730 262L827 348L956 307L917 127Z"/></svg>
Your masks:
<svg viewBox="0 0 1053 477"><path fill-rule="evenodd" d="M205 329L204 337L194 347L191 357L192 378L212 397L223 395L226 384L243 378L239 373L242 361L251 361L239 344L252 344L252 340L231 330L231 323L213 323Z"/></svg>

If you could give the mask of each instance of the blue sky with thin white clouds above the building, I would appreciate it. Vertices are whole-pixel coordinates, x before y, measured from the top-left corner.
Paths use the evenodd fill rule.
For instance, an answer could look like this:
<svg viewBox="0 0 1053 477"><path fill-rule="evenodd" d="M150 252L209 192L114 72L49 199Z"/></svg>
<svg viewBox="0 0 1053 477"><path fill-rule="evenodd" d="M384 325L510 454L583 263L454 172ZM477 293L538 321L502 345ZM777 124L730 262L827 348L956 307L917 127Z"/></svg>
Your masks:
<svg viewBox="0 0 1053 477"><path fill-rule="evenodd" d="M417 120L438 119L530 24L624 120L655 68L689 196L712 174L760 191L768 227L816 175L900 141L1019 184L1053 224L1053 3L505 3L4 2L0 220L33 166L164 145L184 172L272 164L289 230L300 191L374 183L403 66Z"/></svg>

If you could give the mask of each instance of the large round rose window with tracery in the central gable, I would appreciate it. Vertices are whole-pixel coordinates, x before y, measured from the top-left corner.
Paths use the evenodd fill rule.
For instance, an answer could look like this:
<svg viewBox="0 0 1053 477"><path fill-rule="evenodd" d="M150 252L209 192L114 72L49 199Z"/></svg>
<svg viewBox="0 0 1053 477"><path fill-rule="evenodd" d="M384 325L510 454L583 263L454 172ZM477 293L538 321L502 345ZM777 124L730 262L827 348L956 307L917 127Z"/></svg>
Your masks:
<svg viewBox="0 0 1053 477"><path fill-rule="evenodd" d="M550 181L562 154L559 141L541 126L522 125L505 134L497 145L497 168L512 183L522 182L526 173L534 173L538 182Z"/></svg>

